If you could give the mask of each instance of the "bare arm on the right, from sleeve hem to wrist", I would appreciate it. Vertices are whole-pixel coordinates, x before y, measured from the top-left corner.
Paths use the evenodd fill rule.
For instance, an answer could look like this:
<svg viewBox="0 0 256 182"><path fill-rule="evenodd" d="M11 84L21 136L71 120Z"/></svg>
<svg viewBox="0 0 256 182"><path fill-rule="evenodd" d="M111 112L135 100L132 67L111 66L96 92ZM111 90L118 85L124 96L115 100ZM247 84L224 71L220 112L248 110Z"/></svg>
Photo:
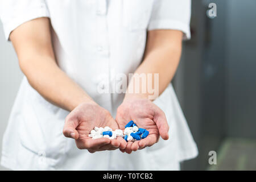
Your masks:
<svg viewBox="0 0 256 182"><path fill-rule="evenodd" d="M143 81L140 81L140 92L134 93L134 90L130 89L131 85L135 86L136 75L134 74L135 76L130 80L125 99L150 98L150 100L154 100L167 88L168 84L170 84L180 60L182 34L179 34L180 37L176 38L177 40L174 40L173 42L162 41L161 39L164 39L162 36L164 35L151 35L151 37L149 35L149 41L151 42L147 45L145 58L135 71L135 73L138 74L143 73L147 75L150 73L152 77L147 77L146 84L144 84ZM155 74L158 74L159 77L154 77ZM148 81L150 81L152 87L154 87L154 92L158 91L156 97L152 97L152 93L148 92L148 89L146 89L146 93L142 93L143 86L148 88Z"/></svg>

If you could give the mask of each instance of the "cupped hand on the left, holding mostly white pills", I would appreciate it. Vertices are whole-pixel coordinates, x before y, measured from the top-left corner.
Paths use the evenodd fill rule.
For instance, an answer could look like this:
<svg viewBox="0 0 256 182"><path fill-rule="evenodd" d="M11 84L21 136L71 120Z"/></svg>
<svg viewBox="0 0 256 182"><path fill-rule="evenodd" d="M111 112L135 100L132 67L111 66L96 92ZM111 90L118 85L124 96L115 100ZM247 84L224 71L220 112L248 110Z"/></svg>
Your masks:
<svg viewBox="0 0 256 182"><path fill-rule="evenodd" d="M65 119L63 134L65 137L76 140L76 146L79 149L87 149L93 153L96 151L124 149L126 141L122 137L117 139L99 138L92 139L88 137L94 127L109 126L113 130L118 129L117 122L108 110L97 105L95 102L86 102L80 104L68 114Z"/></svg>

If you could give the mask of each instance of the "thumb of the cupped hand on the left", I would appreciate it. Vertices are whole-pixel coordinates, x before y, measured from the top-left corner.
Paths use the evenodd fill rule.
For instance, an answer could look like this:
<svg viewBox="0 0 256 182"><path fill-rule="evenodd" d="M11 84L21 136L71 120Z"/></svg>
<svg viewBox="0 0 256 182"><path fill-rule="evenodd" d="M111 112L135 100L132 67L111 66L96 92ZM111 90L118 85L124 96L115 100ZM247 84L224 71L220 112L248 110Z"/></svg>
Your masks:
<svg viewBox="0 0 256 182"><path fill-rule="evenodd" d="M66 118L65 124L63 127L63 134L65 137L78 139L79 133L76 130L76 127L79 125L77 118Z"/></svg>

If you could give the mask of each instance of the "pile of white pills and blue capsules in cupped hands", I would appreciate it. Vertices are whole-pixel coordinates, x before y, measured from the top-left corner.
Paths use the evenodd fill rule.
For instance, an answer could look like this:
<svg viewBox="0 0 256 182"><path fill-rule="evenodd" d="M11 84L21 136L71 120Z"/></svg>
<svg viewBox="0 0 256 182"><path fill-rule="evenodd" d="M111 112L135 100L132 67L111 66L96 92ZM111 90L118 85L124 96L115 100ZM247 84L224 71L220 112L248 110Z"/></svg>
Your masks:
<svg viewBox="0 0 256 182"><path fill-rule="evenodd" d="M113 131L109 126L106 127L94 127L94 130L90 131L89 137L92 139L97 138L109 138L116 139L117 137L123 137L126 142L131 141L135 142L146 138L149 132L145 129L139 128L132 120L125 125L125 130L115 130Z"/></svg>

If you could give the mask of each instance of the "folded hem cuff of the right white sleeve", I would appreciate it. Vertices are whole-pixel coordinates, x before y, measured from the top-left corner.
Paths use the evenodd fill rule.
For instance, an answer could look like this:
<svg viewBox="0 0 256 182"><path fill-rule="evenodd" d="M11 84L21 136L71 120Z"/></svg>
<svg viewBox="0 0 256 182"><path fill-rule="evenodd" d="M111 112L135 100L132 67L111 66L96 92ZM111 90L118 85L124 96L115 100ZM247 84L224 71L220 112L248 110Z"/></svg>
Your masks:
<svg viewBox="0 0 256 182"><path fill-rule="evenodd" d="M149 31L157 29L180 30L184 33L183 40L189 40L191 38L189 24L176 20L152 20L147 29Z"/></svg>

